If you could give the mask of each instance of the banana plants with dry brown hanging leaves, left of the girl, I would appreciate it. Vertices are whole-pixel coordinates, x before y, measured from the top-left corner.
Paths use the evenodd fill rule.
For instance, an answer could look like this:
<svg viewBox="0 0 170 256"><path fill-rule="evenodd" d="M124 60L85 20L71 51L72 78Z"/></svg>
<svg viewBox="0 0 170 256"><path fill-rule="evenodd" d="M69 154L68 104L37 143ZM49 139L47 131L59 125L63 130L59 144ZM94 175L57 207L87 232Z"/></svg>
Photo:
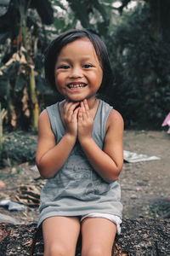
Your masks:
<svg viewBox="0 0 170 256"><path fill-rule="evenodd" d="M48 45L43 26L54 21L53 9L48 0L6 4L6 13L0 16L0 44L4 46L0 101L8 112L5 125L8 130L36 130L42 96L38 98L41 86L37 90L35 80L42 75L42 53Z"/></svg>

